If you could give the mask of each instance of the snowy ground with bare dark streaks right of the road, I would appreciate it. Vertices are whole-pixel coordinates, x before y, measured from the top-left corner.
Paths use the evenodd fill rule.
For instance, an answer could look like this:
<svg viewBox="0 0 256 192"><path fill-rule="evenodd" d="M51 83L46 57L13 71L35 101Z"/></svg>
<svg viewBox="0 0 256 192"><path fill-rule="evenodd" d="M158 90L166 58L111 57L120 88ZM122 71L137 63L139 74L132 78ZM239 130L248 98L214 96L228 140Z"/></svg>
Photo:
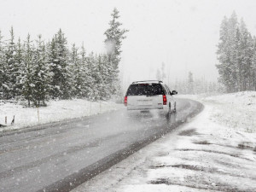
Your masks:
<svg viewBox="0 0 256 192"><path fill-rule="evenodd" d="M73 191L256 191L256 92L180 97L203 112Z"/></svg>

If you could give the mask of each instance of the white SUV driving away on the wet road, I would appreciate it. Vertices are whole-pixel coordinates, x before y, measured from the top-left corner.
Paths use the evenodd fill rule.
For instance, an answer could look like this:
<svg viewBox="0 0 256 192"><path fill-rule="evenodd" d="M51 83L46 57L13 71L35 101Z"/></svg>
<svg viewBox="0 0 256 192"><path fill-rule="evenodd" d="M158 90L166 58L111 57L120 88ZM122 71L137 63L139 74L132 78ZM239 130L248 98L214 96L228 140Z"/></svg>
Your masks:
<svg viewBox="0 0 256 192"><path fill-rule="evenodd" d="M162 81L136 81L133 82L125 95L127 110L147 111L158 109L166 113L176 112L176 102L172 95L177 91L169 90Z"/></svg>

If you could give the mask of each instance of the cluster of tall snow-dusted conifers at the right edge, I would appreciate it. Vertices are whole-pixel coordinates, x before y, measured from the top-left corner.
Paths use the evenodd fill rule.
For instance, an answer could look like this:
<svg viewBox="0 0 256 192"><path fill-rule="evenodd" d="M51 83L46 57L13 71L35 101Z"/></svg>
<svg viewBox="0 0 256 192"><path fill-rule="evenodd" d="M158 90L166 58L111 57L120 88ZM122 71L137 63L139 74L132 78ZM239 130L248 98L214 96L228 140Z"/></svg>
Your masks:
<svg viewBox="0 0 256 192"><path fill-rule="evenodd" d="M221 23L217 54L219 81L226 92L256 90L256 37L235 12Z"/></svg>

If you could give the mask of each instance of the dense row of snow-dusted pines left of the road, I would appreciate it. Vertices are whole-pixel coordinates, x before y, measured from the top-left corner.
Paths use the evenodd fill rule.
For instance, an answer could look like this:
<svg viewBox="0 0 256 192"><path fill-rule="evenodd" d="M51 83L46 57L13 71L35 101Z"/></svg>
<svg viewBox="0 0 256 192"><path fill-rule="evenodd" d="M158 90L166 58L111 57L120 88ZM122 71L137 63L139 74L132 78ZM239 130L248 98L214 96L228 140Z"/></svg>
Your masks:
<svg viewBox="0 0 256 192"><path fill-rule="evenodd" d="M119 96L119 61L125 29L113 9L104 32L106 53L86 53L84 44L72 44L61 29L52 39L42 35L15 40L13 27L4 40L0 32L0 100L26 101L26 106L46 106L49 99L109 100ZM85 34L84 34L85 35Z"/></svg>

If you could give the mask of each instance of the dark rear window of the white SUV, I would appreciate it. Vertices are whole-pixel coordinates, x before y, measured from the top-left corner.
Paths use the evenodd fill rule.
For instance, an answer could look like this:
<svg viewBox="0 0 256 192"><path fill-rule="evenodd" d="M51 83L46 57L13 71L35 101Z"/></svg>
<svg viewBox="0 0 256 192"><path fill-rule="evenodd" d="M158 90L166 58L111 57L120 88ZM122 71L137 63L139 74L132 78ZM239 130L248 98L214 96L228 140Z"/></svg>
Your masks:
<svg viewBox="0 0 256 192"><path fill-rule="evenodd" d="M131 84L126 96L155 96L164 95L161 84Z"/></svg>

